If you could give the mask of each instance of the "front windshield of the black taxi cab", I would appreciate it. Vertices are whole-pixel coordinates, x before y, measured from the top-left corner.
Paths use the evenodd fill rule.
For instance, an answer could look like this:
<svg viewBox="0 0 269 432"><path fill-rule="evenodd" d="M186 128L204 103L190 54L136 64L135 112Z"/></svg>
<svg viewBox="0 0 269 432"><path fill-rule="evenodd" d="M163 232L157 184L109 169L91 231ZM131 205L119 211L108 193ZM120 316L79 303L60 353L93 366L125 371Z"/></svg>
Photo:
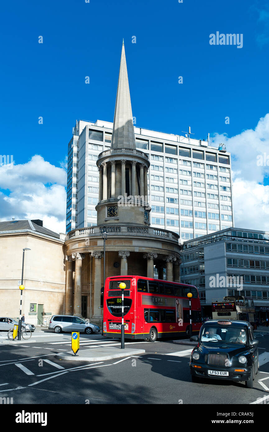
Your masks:
<svg viewBox="0 0 269 432"><path fill-rule="evenodd" d="M202 330L200 342L225 342L247 344L245 328L231 325L205 326Z"/></svg>

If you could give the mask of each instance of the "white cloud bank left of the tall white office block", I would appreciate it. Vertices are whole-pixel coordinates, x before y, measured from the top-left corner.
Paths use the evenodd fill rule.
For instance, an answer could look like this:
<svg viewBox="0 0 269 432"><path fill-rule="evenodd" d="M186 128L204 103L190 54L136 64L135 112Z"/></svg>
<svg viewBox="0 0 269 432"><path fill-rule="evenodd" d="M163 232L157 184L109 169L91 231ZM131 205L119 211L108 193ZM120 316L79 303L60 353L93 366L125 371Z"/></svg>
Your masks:
<svg viewBox="0 0 269 432"><path fill-rule="evenodd" d="M65 232L66 178L64 168L32 156L25 163L0 166L0 218L42 219L43 226Z"/></svg>

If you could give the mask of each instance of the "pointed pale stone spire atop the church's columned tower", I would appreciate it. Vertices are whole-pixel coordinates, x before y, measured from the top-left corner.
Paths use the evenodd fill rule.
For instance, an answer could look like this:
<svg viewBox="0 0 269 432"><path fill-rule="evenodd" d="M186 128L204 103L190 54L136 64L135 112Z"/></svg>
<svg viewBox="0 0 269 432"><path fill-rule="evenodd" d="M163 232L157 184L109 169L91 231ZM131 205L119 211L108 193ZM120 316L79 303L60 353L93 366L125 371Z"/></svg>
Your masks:
<svg viewBox="0 0 269 432"><path fill-rule="evenodd" d="M133 114L128 83L124 40L122 41L122 57L118 75L115 114L112 132L112 149L136 149L134 137Z"/></svg>

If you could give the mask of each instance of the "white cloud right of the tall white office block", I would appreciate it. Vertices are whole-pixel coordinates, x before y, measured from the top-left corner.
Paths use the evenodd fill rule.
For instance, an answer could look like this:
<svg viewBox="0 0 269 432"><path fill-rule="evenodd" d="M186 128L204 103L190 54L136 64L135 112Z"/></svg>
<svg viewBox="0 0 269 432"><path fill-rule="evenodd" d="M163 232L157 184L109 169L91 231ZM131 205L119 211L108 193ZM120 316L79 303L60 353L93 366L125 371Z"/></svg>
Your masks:
<svg viewBox="0 0 269 432"><path fill-rule="evenodd" d="M215 134L212 145L225 143L232 157L234 226L269 231L269 165L259 166L257 158L269 156L269 114L260 118L254 130L235 137ZM265 159L266 160L266 159Z"/></svg>

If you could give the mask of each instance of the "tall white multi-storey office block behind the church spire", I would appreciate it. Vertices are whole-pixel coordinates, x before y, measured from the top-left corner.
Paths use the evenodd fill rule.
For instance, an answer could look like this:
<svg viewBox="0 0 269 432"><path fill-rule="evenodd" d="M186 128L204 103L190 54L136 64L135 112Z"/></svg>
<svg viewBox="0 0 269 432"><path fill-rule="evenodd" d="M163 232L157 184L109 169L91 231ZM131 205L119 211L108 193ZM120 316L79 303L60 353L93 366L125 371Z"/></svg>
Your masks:
<svg viewBox="0 0 269 432"><path fill-rule="evenodd" d="M111 148L113 124L77 121L68 144L66 230L97 224L99 155ZM189 135L189 134L187 134ZM147 177L151 226L181 241L233 226L231 155L189 136L134 127L136 149L150 161ZM126 181L131 191L131 165ZM119 192L117 189L116 192Z"/></svg>

